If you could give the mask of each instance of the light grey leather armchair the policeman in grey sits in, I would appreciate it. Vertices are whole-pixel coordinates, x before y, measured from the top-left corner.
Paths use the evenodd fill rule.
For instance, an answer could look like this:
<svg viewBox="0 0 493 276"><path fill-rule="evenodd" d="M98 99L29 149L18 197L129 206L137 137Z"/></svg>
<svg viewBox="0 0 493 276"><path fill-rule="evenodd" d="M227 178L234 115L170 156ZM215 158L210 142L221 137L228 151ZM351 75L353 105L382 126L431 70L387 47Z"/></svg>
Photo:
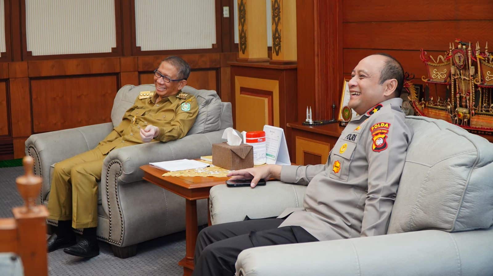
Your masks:
<svg viewBox="0 0 493 276"><path fill-rule="evenodd" d="M236 275L493 275L493 144L441 120L408 116L406 123L414 137L387 235L246 249ZM304 190L279 181L215 186L212 223L303 207Z"/></svg>

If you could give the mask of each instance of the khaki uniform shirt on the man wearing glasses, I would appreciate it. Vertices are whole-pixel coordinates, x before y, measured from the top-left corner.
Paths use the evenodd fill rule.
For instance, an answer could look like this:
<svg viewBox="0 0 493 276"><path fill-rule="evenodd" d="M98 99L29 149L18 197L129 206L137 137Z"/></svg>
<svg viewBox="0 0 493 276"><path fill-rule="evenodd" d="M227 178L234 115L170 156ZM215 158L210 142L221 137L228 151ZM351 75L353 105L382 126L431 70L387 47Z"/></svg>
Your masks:
<svg viewBox="0 0 493 276"><path fill-rule="evenodd" d="M113 149L142 144L141 128L149 124L159 128L159 136L154 138L157 141L180 139L195 123L199 112L197 100L189 93L179 91L158 103L156 93L141 99L139 97L140 95L135 104L125 112L122 122L98 144L97 148L103 154Z"/></svg>

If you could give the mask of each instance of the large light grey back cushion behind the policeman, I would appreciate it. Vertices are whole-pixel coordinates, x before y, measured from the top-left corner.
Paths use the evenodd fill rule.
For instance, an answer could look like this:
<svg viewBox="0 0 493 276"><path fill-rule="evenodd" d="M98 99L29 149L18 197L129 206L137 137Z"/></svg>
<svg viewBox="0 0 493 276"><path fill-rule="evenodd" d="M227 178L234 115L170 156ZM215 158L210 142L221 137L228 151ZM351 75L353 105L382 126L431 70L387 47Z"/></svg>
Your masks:
<svg viewBox="0 0 493 276"><path fill-rule="evenodd" d="M414 131L388 234L465 231L493 224L493 144L427 117L406 117Z"/></svg>

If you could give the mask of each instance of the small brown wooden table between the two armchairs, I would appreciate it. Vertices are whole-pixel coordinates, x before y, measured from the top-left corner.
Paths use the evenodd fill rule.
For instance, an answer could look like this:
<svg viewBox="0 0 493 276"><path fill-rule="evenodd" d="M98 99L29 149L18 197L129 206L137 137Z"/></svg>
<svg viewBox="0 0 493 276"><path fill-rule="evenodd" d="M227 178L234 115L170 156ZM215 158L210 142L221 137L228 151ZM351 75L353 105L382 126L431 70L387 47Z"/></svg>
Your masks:
<svg viewBox="0 0 493 276"><path fill-rule="evenodd" d="M198 235L197 200L207 198L209 203L209 190L211 187L224 184L229 178L162 176L168 171L156 168L152 165L143 165L141 166L141 170L144 171L144 180L185 198L186 254L185 257L178 262L178 265L183 267L184 276L192 275L194 268L193 256ZM208 221L209 225L211 225L211 214L209 212Z"/></svg>

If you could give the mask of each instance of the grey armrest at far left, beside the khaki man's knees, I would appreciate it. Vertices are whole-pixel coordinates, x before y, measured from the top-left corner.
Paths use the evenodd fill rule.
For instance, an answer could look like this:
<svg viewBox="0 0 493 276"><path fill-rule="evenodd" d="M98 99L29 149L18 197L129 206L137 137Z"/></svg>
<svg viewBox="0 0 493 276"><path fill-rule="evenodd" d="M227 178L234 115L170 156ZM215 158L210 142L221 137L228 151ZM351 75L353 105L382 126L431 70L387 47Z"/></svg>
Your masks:
<svg viewBox="0 0 493 276"><path fill-rule="evenodd" d="M35 160L35 174L43 178L41 199L50 190L52 164L94 149L112 129L112 123L100 123L31 135L26 140L25 151Z"/></svg>

